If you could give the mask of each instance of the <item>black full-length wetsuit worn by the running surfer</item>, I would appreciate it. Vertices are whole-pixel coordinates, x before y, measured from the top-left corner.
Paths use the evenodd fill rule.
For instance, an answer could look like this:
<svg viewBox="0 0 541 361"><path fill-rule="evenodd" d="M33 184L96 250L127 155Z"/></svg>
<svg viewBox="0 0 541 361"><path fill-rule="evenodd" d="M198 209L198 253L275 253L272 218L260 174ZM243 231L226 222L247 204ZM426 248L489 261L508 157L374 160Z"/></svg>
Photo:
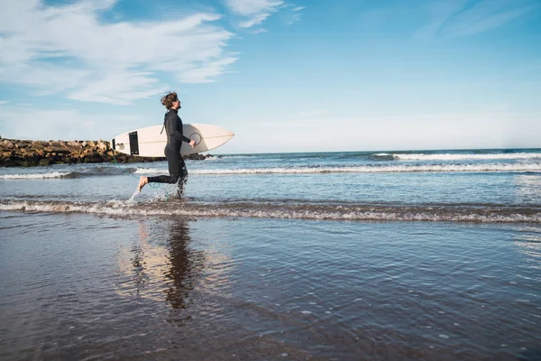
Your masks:
<svg viewBox="0 0 541 361"><path fill-rule="evenodd" d="M189 143L190 139L182 134L182 120L179 117L179 111L170 109L164 116L163 126L167 134L167 144L164 153L167 158L170 175L159 175L149 177L149 183L170 183L179 181L179 196L184 191L184 184L188 180L188 170L186 164L180 155L180 146L182 142Z"/></svg>

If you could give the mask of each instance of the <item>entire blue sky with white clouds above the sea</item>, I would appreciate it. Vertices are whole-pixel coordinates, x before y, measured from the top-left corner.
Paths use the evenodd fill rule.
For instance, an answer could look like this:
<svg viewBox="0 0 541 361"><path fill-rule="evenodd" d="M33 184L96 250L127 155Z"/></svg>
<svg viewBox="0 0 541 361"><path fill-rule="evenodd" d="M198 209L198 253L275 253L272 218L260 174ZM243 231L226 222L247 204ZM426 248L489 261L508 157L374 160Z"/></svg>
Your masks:
<svg viewBox="0 0 541 361"><path fill-rule="evenodd" d="M541 0L0 0L0 135L211 153L541 148Z"/></svg>

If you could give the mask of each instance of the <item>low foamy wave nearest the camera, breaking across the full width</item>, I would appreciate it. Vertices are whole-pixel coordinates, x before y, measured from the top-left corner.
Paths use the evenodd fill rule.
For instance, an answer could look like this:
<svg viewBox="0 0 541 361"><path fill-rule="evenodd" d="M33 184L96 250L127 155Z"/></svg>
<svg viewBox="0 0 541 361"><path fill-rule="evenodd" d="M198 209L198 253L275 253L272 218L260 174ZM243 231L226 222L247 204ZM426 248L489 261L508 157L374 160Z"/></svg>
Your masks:
<svg viewBox="0 0 541 361"><path fill-rule="evenodd" d="M69 202L50 200L0 200L0 210L90 213L112 217L184 216L195 218L282 218L313 220L434 221L478 223L541 223L541 207L505 205L371 205L230 202L129 203Z"/></svg>

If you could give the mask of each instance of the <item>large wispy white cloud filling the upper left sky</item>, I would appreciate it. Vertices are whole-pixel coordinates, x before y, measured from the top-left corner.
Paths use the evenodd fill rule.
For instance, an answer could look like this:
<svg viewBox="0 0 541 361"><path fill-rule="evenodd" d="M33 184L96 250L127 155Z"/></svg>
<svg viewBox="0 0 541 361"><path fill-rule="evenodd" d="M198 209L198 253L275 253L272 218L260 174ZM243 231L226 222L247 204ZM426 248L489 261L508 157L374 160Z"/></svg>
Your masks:
<svg viewBox="0 0 541 361"><path fill-rule="evenodd" d="M218 14L100 21L98 15L114 4L0 2L0 81L32 87L37 94L63 92L72 99L124 105L160 93L160 72L180 81L209 82L236 60L225 52L234 34L215 25Z"/></svg>

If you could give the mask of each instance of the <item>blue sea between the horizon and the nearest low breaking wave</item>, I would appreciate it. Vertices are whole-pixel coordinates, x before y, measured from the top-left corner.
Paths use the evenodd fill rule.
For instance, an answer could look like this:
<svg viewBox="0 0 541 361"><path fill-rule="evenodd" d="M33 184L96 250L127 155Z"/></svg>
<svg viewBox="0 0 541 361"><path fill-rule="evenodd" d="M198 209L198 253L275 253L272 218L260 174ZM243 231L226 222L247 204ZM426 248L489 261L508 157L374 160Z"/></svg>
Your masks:
<svg viewBox="0 0 541 361"><path fill-rule="evenodd" d="M454 205L472 211L486 205L529 207L529 213L541 216L539 150L245 154L187 164L186 197L192 203L251 203L261 214L270 202L333 202L359 207L434 205L447 211ZM125 201L141 175L160 173L167 173L165 162L0 169L0 199ZM175 193L175 186L154 184L133 200L148 204L170 200ZM524 221L523 213L517 214L517 220Z"/></svg>

